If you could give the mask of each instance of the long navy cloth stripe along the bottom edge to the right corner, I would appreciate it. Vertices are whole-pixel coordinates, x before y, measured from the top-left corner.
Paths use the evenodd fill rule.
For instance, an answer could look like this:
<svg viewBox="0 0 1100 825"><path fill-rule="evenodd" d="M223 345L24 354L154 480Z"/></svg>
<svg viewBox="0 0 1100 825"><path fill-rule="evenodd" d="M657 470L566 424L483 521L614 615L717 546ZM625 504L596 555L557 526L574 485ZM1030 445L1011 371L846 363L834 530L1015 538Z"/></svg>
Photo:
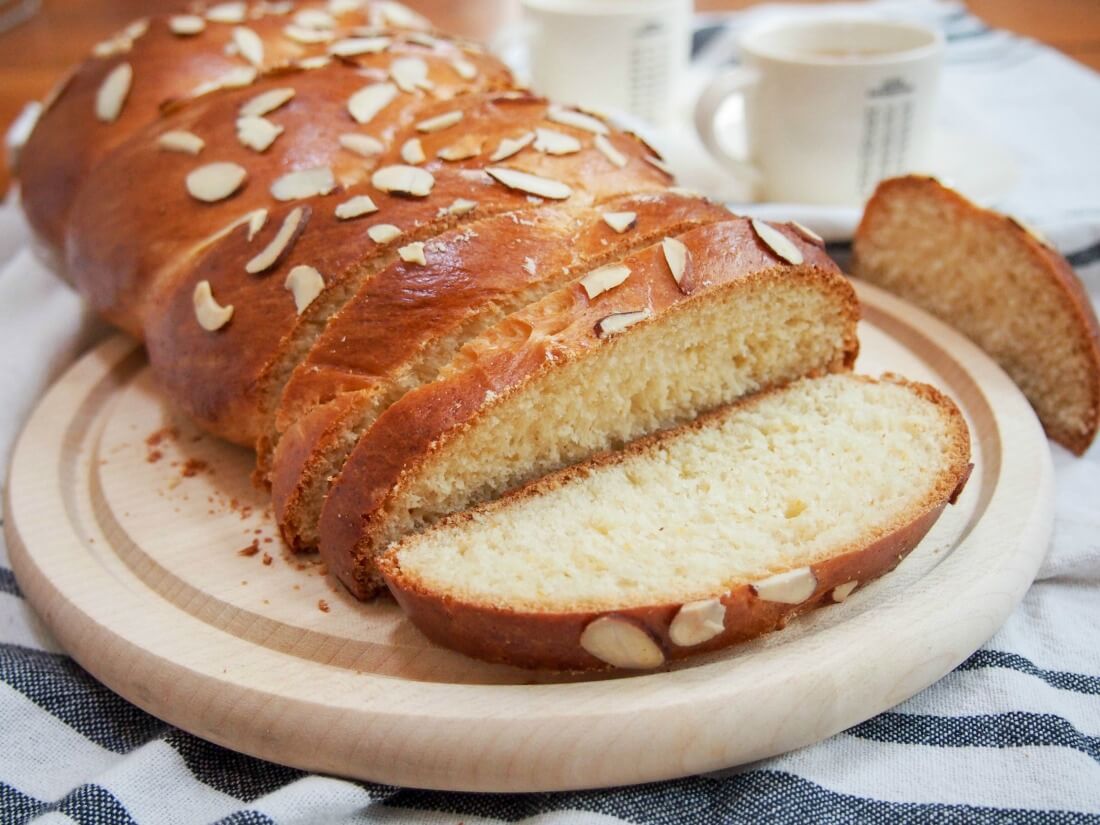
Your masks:
<svg viewBox="0 0 1100 825"><path fill-rule="evenodd" d="M723 779L692 777L637 788L569 793L446 793L405 790L386 805L455 816L517 822L554 811L586 811L637 825L804 825L804 823L959 823L966 825L1098 825L1100 816L974 805L882 802L822 788L785 771L756 770Z"/></svg>

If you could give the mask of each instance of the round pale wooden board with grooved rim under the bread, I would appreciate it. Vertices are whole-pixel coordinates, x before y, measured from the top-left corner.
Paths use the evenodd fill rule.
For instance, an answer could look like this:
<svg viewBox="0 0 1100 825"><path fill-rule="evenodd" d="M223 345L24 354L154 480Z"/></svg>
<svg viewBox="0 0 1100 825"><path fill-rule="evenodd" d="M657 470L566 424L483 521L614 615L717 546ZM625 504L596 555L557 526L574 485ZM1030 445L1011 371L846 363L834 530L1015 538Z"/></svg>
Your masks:
<svg viewBox="0 0 1100 825"><path fill-rule="evenodd" d="M388 600L348 597L282 549L249 481L251 453L176 419L124 338L77 363L19 441L12 563L59 641L112 690L206 739L304 769L546 791L809 745L908 698L992 636L1052 526L1049 450L1015 386L947 327L859 292L859 371L950 394L971 427L974 476L895 572L679 668L581 680L486 666L428 642ZM253 539L258 551L241 554Z"/></svg>

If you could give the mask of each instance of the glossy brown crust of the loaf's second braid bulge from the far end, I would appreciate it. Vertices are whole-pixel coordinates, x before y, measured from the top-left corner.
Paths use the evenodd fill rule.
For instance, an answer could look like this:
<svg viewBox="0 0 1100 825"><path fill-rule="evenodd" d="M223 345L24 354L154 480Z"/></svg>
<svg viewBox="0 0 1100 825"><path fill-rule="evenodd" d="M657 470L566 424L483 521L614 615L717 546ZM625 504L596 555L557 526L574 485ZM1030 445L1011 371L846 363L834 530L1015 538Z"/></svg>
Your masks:
<svg viewBox="0 0 1100 825"><path fill-rule="evenodd" d="M443 100L471 90L504 88L509 82L507 70L493 58L466 55L479 72L474 79L463 79L450 64L459 54L464 55L447 41L438 41L432 52L395 36L382 54L272 74L244 88L202 96L135 130L88 173L73 204L66 255L78 288L109 320L140 337L143 319L150 315L148 299L180 273L189 272L206 244L252 210L277 210L279 204L272 197L271 186L283 175L330 167L339 183L337 189L327 198L306 202L323 209L334 221L331 213L336 204L346 199L349 191L359 194L375 165L394 163L395 154L362 157L341 146L340 135L369 134L389 145L395 135L425 117L430 106L426 91L402 92L360 125L348 111L350 97L371 82L385 80L391 62L402 56L416 56L428 64L431 95ZM266 118L284 128L284 133L262 153L244 146L237 136L241 107L280 88L294 89L295 96ZM157 141L170 131L191 132L207 145L198 156L165 151ZM187 191L185 180L191 170L213 162L239 164L248 178L231 197L205 204ZM268 232L277 228L272 223L270 220L265 227ZM241 266L262 249L234 248L242 255Z"/></svg>

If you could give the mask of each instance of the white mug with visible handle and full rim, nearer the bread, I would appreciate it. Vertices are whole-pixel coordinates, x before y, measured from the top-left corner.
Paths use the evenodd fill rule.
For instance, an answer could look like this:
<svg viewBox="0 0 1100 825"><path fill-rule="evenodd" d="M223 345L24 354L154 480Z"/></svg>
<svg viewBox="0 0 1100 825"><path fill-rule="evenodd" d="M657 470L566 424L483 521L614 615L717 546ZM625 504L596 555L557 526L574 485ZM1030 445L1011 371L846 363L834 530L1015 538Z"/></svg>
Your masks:
<svg viewBox="0 0 1100 825"><path fill-rule="evenodd" d="M761 200L857 204L882 178L924 167L944 41L913 23L787 21L740 40L741 65L698 98L706 147ZM715 117L745 100L747 156L730 153Z"/></svg>

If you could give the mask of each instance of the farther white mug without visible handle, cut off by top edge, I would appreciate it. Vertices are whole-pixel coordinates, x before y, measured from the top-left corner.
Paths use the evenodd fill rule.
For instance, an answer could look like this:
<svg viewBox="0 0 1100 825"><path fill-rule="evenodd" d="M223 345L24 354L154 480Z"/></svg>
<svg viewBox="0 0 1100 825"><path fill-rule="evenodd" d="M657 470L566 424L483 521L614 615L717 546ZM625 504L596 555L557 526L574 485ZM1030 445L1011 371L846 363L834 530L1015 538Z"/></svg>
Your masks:
<svg viewBox="0 0 1100 825"><path fill-rule="evenodd" d="M691 52L692 0L524 0L531 88L666 122Z"/></svg>

